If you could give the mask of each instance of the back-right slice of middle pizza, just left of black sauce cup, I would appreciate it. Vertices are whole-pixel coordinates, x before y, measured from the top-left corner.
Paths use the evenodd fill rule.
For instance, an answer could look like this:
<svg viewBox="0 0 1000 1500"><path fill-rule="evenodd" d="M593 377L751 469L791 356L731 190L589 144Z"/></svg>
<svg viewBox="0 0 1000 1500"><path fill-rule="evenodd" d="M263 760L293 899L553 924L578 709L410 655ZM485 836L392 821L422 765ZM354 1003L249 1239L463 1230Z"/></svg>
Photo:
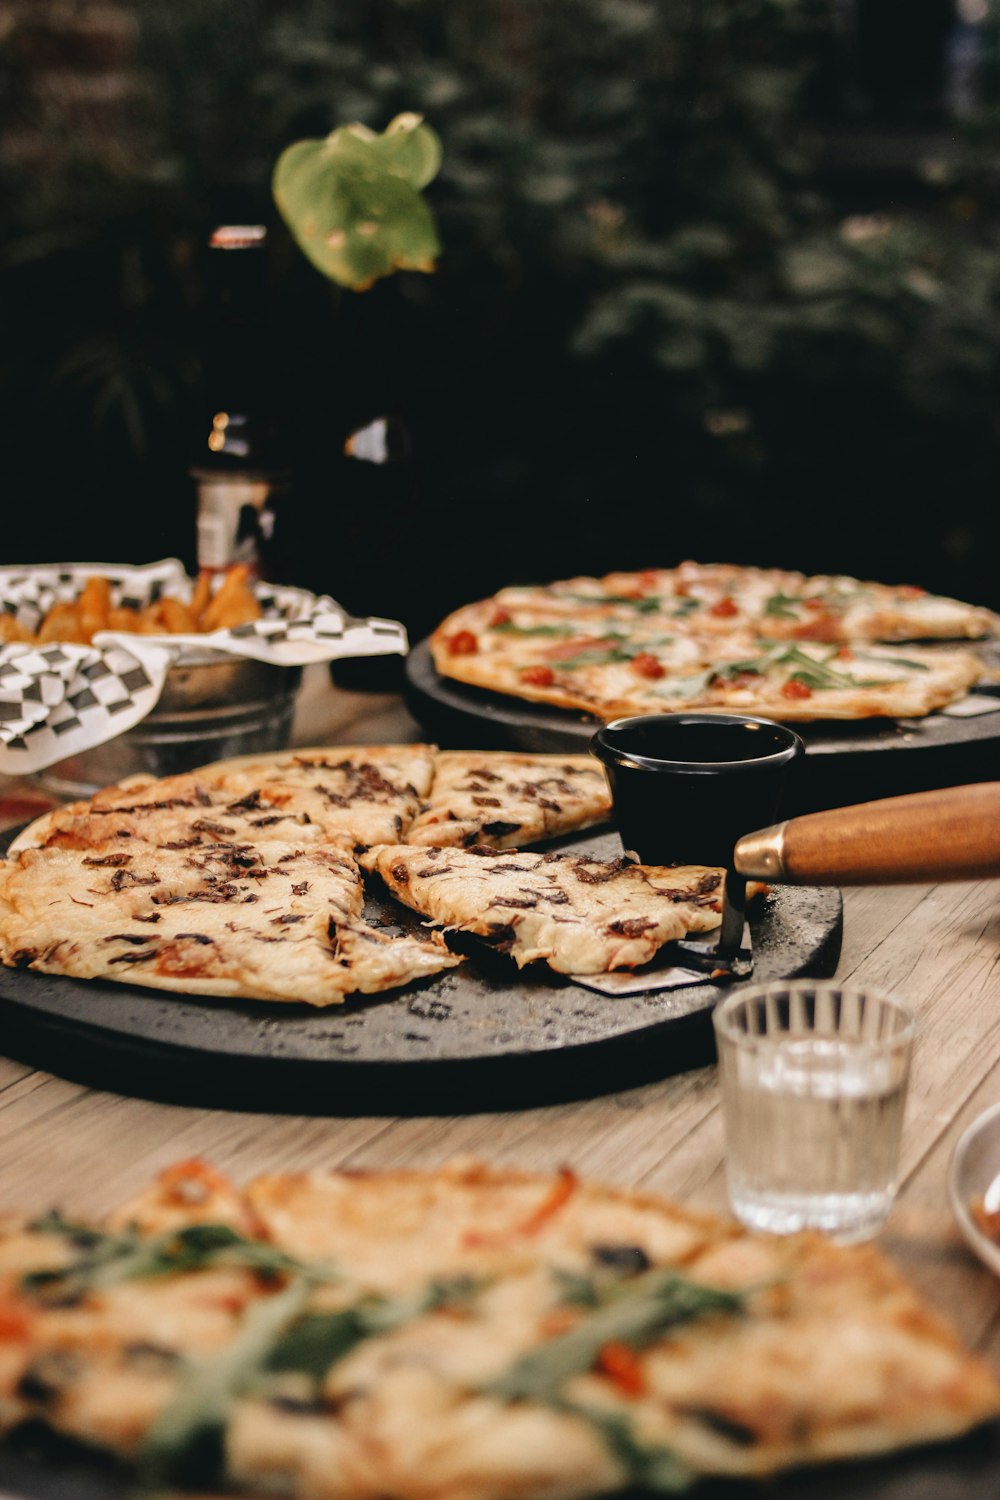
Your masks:
<svg viewBox="0 0 1000 1500"><path fill-rule="evenodd" d="M589 754L441 750L403 842L505 849L591 828L610 812L604 771Z"/></svg>

